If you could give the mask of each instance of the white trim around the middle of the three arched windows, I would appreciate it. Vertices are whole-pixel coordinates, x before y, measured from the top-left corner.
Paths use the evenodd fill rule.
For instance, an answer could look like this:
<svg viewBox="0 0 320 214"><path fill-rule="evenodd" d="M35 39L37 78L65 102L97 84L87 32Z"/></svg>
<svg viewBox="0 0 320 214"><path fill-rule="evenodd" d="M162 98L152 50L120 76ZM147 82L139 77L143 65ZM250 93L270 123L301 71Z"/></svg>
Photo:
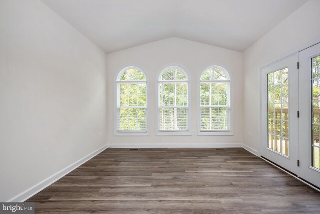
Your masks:
<svg viewBox="0 0 320 214"><path fill-rule="evenodd" d="M181 71L184 72L184 74L186 75L187 80L174 80L174 81L166 81L166 80L159 80L161 75L163 74L164 71L166 71L169 68L176 68L176 69L180 69ZM177 65L171 65L171 66L166 66L163 69L161 69L161 71L158 73L158 75L156 76L156 89L155 89L155 136L191 136L191 96L190 96L190 91L191 91L191 80L189 78L189 75L185 72L185 70L183 68L181 68L181 66L177 66ZM188 83L188 130L159 130L159 83L180 83L180 82L186 82ZM184 107L184 106L183 106Z"/></svg>

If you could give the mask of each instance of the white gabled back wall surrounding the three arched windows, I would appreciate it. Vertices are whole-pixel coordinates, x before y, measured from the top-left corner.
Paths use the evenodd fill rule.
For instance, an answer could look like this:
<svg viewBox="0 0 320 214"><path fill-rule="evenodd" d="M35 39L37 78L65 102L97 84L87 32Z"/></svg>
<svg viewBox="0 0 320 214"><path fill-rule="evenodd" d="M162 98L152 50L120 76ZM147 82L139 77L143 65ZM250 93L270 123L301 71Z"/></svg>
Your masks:
<svg viewBox="0 0 320 214"><path fill-rule="evenodd" d="M233 136L155 136L156 79L162 69L178 65L190 78L191 130L197 130L197 80L199 74L215 63L223 64L234 81L234 135ZM149 87L150 136L113 136L116 116L114 82L118 72L127 66L137 66L146 73ZM213 146L214 144L243 143L242 129L242 53L179 38L169 38L107 55L108 132L109 146ZM204 145L203 145L204 144Z"/></svg>

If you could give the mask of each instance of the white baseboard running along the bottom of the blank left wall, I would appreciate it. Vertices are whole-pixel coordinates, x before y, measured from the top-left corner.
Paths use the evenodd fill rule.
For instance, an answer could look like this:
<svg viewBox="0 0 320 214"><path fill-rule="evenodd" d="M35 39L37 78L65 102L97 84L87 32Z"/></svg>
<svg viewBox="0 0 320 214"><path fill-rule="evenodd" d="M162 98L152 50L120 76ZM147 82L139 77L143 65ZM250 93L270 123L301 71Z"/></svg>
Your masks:
<svg viewBox="0 0 320 214"><path fill-rule="evenodd" d="M45 180L35 184L34 186L30 187L29 189L25 190L24 192L16 195L15 197L9 199L6 202L24 202L25 200L29 199L36 193L42 191L44 188L48 187L55 181L59 180L61 177L65 176L66 174L70 173L73 171L75 168L79 167L86 161L90 160L97 154L101 153L107 148L107 145L102 146L101 148L95 150L91 154L88 154L87 156L81 158L80 160L76 161L75 163L65 167L64 169L58 171L57 173L51 175L50 177L46 178Z"/></svg>

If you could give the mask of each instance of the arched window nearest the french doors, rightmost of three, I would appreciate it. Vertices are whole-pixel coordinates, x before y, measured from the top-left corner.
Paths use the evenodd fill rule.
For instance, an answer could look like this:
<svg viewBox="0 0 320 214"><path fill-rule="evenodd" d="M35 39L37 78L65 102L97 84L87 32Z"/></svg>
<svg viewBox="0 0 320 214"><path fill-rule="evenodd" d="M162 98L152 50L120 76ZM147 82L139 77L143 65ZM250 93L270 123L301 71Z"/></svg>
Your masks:
<svg viewBox="0 0 320 214"><path fill-rule="evenodd" d="M200 77L200 132L230 130L230 77L220 66Z"/></svg>

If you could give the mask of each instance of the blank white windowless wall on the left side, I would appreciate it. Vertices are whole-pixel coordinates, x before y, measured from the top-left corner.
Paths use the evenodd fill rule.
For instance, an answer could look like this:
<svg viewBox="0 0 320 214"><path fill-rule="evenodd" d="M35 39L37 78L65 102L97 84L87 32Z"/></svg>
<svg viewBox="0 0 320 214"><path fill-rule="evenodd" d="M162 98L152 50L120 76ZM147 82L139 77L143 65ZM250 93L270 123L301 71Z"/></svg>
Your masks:
<svg viewBox="0 0 320 214"><path fill-rule="evenodd" d="M0 1L1 202L106 144L105 58L42 2Z"/></svg>

